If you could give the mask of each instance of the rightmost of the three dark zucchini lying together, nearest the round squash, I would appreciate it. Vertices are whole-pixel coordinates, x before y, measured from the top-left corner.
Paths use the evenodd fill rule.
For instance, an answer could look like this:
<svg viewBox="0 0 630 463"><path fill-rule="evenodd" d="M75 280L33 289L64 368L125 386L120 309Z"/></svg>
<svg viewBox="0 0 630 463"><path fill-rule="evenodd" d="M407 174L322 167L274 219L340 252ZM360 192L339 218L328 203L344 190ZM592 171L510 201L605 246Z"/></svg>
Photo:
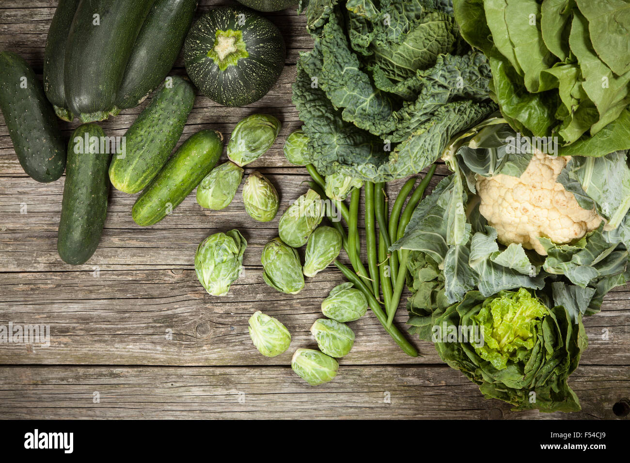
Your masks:
<svg viewBox="0 0 630 463"><path fill-rule="evenodd" d="M164 80L190 29L197 0L156 0L135 39L116 106L134 108Z"/></svg>

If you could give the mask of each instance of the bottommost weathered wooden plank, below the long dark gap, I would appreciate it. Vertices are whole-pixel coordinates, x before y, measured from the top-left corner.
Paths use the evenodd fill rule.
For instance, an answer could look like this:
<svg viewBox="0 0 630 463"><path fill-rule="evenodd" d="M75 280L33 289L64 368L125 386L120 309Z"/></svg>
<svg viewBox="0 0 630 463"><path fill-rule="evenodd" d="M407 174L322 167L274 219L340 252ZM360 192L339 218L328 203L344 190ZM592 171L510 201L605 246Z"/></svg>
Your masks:
<svg viewBox="0 0 630 463"><path fill-rule="evenodd" d="M612 406L630 393L622 367L580 367L569 384L582 411L549 414L512 412L447 367L342 366L336 379L316 387L288 367L3 367L0 416L615 419Z"/></svg>

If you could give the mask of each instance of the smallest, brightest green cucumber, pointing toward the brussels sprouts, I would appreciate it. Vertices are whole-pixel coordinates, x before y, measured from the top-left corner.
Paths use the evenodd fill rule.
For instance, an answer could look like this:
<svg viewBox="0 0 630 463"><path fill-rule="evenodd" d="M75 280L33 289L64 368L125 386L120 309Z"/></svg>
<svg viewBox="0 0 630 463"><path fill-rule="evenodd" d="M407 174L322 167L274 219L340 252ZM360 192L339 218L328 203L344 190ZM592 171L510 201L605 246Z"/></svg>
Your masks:
<svg viewBox="0 0 630 463"><path fill-rule="evenodd" d="M223 152L223 135L201 130L183 142L164 169L142 191L131 215L142 227L170 214L214 168Z"/></svg>

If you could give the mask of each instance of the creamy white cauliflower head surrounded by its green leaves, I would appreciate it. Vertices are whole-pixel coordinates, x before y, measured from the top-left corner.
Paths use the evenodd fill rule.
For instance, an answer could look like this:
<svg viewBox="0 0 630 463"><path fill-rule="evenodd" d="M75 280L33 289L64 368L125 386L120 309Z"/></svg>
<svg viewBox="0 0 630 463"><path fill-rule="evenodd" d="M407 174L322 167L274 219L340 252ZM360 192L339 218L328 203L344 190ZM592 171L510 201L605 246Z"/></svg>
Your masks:
<svg viewBox="0 0 630 463"><path fill-rule="evenodd" d="M479 212L495 227L500 243L521 243L544 256L539 237L566 244L599 227L602 218L597 212L582 209L556 182L569 159L538 151L520 178L504 174L478 178Z"/></svg>

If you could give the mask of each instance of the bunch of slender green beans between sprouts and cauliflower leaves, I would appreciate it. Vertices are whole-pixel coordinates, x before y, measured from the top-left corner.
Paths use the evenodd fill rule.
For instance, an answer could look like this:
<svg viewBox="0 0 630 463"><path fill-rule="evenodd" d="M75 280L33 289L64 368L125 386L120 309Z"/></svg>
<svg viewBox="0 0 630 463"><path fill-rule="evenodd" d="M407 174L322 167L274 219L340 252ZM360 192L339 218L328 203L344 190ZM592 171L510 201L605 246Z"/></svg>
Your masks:
<svg viewBox="0 0 630 463"><path fill-rule="evenodd" d="M420 203L425 189L435 173L435 168L435 165L431 166L415 190L413 187L417 178L412 177L406 181L394 201L391 212L389 212L386 184L369 181L364 183L366 269L361 260L362 246L358 235L360 188L355 188L350 193L350 207L348 207L343 201L326 197L324 178L312 164L306 166L312 178L309 185L330 205L326 207L326 215L333 227L341 234L343 248L348 254L352 270L338 260L335 261L335 265L357 289L364 293L370 309L387 333L396 341L403 352L411 355L411 357L417 357L418 351L403 333L392 325L404 290L409 251L400 249L390 252L389 248L392 243L403 237L404 229L409 224L413 211ZM412 190L413 193L411 193ZM345 220L347 232L338 217L333 217L333 206Z"/></svg>

